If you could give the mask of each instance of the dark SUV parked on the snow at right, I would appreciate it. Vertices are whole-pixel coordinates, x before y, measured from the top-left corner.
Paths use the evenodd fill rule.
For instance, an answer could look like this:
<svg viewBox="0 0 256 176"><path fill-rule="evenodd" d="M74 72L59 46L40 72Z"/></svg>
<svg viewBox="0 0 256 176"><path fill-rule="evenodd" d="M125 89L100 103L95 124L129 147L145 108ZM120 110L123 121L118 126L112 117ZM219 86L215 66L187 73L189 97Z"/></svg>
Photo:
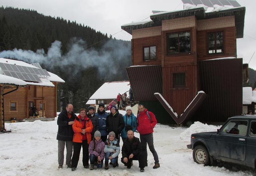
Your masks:
<svg viewBox="0 0 256 176"><path fill-rule="evenodd" d="M220 160L255 168L256 116L230 117L215 132L194 133L187 147L199 164L211 165Z"/></svg>

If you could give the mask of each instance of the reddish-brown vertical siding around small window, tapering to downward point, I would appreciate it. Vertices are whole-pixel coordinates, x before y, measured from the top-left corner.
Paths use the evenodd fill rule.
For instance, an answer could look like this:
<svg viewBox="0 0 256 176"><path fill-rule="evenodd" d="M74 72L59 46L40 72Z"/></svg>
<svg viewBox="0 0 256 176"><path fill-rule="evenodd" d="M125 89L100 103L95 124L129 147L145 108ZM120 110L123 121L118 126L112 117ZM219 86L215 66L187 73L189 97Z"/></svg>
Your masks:
<svg viewBox="0 0 256 176"><path fill-rule="evenodd" d="M172 73L185 72L185 88L173 88ZM163 68L163 97L179 116L197 93L197 66Z"/></svg>

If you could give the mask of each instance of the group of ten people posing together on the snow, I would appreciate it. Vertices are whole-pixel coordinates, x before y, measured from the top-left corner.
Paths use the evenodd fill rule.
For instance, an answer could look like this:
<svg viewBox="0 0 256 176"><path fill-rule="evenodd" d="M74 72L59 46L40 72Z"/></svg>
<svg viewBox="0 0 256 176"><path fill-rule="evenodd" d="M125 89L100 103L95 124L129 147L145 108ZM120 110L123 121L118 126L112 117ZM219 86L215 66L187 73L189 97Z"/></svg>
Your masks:
<svg viewBox="0 0 256 176"><path fill-rule="evenodd" d="M160 167L153 144L153 128L157 123L155 115L141 104L138 106L137 117L132 113L132 107L127 106L125 110L126 114L123 116L116 106L112 106L111 113L107 114L105 105L100 103L97 113L94 112L94 107L90 106L88 112L86 109L80 109L79 115L76 116L73 113L73 105L68 104L57 120L58 168L62 168L64 164L65 145L66 166L72 171L75 171L78 165L81 148L84 168L102 168L104 159L106 170L109 164L113 167L119 166L120 138L123 141L121 162L128 169L133 165L133 160L138 160L140 171L144 172L144 167L148 166L147 144L154 156L153 168ZM134 136L136 130L140 133L140 139Z"/></svg>

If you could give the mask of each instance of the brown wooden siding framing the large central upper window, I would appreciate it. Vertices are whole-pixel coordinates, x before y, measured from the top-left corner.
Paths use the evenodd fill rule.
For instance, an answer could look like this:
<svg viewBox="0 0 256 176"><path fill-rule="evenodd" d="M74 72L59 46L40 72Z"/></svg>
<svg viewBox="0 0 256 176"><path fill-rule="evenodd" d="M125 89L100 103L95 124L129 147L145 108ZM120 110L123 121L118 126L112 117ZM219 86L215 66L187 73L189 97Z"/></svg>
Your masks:
<svg viewBox="0 0 256 176"><path fill-rule="evenodd" d="M167 55L167 34L172 32L180 32L180 31L190 31L191 35L191 53L177 53ZM164 43L164 47L162 48L164 53L164 67L173 66L173 65L196 65L196 28L185 28L179 30L171 30L162 32L162 39Z"/></svg>

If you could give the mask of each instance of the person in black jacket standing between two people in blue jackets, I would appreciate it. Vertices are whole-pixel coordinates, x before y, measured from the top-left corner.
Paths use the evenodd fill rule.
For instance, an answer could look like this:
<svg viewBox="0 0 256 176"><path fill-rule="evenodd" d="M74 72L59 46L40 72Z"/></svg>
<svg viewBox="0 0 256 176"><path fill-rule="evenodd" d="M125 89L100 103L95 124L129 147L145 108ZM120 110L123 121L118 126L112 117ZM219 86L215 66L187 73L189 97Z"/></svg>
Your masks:
<svg viewBox="0 0 256 176"><path fill-rule="evenodd" d="M107 117L106 130L108 131L108 133L114 131L116 134L116 139L119 143L120 133L124 128L124 118L122 114L119 114L116 106L112 106L110 112L111 113Z"/></svg>

